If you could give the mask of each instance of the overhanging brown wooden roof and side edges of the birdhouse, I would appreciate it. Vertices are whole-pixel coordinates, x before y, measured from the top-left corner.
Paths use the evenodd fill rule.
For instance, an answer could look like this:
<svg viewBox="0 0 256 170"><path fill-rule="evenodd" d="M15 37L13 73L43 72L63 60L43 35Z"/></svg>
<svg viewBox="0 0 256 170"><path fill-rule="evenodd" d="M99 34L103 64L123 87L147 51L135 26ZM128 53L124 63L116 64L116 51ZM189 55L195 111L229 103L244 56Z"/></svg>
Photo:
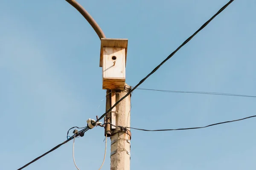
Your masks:
<svg viewBox="0 0 256 170"><path fill-rule="evenodd" d="M103 48L104 47L125 48L125 65L126 65L128 39L102 38L101 39L101 47L100 47L100 59L99 59L100 67L102 67Z"/></svg>

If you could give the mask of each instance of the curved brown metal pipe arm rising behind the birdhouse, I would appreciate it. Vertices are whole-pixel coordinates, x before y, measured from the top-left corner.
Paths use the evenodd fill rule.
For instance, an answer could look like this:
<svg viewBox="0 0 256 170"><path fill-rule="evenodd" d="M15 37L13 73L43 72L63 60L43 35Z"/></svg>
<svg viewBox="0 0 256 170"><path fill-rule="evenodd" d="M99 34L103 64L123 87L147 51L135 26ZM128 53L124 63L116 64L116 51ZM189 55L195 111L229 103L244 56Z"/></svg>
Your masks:
<svg viewBox="0 0 256 170"><path fill-rule="evenodd" d="M77 9L77 11L80 12L80 14L88 21L88 23L93 27L94 31L99 36L99 39L106 38L104 32L99 27L99 25L96 23L96 21L93 19L93 17L78 3L76 0L66 0L70 5L72 5L74 8Z"/></svg>

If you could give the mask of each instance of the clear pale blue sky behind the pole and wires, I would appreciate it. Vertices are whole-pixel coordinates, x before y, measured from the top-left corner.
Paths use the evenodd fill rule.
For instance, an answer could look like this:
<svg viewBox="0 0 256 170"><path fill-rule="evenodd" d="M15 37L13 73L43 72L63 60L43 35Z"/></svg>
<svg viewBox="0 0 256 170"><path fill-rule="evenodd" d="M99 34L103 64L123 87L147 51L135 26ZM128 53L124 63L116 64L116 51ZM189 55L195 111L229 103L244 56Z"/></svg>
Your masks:
<svg viewBox="0 0 256 170"><path fill-rule="evenodd" d="M79 0L108 38L128 38L134 86L228 0ZM235 0L140 88L256 95L256 1ZM105 112L100 40L65 0L0 1L1 170L15 170ZM184 128L256 114L256 99L135 90L131 127ZM255 170L256 119L132 130L131 170ZM81 170L102 164L104 129L78 138ZM25 170L75 170L72 142ZM110 142L102 170L110 169Z"/></svg>

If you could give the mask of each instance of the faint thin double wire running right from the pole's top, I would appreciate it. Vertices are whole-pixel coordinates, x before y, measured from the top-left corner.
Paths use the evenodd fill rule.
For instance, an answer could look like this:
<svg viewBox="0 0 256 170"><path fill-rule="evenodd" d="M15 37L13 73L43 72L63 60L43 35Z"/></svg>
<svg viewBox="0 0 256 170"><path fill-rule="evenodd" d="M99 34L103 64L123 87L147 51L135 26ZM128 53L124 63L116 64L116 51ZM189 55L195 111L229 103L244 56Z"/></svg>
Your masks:
<svg viewBox="0 0 256 170"><path fill-rule="evenodd" d="M215 92L203 92L203 91L169 91L169 90L157 90L157 89L149 89L149 88L137 88L137 90L161 91L166 93L190 93L190 94L209 94L209 95L222 95L222 96L256 97L256 96L242 95L242 94L215 93Z"/></svg>

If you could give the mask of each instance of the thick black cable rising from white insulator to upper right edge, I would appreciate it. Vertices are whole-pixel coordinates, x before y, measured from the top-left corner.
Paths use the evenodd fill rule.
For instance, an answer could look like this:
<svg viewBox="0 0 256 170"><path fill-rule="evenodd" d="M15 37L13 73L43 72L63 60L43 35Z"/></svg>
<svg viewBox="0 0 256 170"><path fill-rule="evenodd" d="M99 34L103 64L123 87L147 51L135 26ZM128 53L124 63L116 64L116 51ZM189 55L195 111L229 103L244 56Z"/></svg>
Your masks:
<svg viewBox="0 0 256 170"><path fill-rule="evenodd" d="M156 68L154 68L153 71L151 71L145 78L143 78L142 80L140 80L140 82L134 87L132 88L127 94L125 94L125 96L123 96L121 99L119 99L119 101L117 101L110 109L108 109L108 111L106 111L102 116L99 117L99 119L96 120L96 122L99 122L99 120L101 120L102 118L104 118L104 116L106 116L106 114L108 112L110 112L114 107L116 107L116 105L119 104L119 102L121 102L123 99L125 99L125 97L129 96L139 85L141 85L149 76L151 76L154 72L156 72L168 59L170 59L181 47L183 47L187 42L189 42L196 34L198 34L198 32L200 32L205 26L207 26L218 14L220 14L225 8L227 8L227 6L230 5L230 3L232 3L234 0L230 0L226 5L224 5L216 14L214 14L206 23L204 23L197 31L195 31L194 34L192 34L192 36L190 36L188 39L186 39L175 51L173 51L166 59L163 60L163 62L161 62L159 65L157 65ZM96 123L95 122L95 123Z"/></svg>

